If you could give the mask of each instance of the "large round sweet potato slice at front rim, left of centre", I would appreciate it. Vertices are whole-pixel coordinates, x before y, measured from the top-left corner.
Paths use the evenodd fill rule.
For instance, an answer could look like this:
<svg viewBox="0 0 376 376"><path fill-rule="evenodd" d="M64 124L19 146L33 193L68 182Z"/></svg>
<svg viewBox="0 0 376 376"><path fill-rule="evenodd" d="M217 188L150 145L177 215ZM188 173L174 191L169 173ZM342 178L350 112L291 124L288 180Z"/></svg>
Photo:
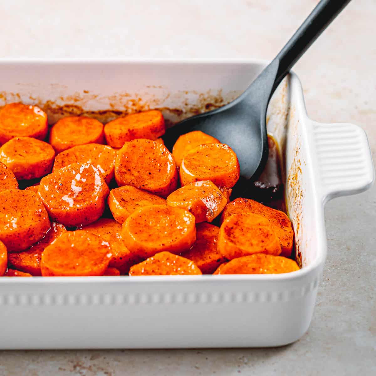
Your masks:
<svg viewBox="0 0 376 376"><path fill-rule="evenodd" d="M67 231L45 247L42 276L101 276L111 259L111 247L85 230Z"/></svg>

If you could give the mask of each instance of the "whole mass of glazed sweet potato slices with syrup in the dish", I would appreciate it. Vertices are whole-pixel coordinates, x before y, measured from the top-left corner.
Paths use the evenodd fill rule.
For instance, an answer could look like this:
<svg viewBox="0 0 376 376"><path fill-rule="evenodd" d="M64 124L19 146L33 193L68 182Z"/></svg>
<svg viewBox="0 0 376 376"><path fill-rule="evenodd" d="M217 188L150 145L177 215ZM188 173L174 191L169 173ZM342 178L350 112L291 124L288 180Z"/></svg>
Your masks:
<svg viewBox="0 0 376 376"><path fill-rule="evenodd" d="M251 198L231 201L240 177L231 145L194 131L170 151L165 132L156 110L105 126L73 116L59 120L46 143L43 111L4 106L0 276L298 270L273 140Z"/></svg>

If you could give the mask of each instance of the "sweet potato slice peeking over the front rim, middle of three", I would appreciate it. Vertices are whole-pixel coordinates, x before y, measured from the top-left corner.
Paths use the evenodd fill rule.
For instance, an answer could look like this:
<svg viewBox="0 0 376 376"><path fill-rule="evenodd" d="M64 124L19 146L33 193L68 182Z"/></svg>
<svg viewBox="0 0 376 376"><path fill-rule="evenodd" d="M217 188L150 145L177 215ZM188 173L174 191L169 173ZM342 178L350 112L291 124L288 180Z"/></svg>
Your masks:
<svg viewBox="0 0 376 376"><path fill-rule="evenodd" d="M130 276L167 276L167 275L199 275L201 270L193 261L170 252L159 252L155 256L133 265Z"/></svg>

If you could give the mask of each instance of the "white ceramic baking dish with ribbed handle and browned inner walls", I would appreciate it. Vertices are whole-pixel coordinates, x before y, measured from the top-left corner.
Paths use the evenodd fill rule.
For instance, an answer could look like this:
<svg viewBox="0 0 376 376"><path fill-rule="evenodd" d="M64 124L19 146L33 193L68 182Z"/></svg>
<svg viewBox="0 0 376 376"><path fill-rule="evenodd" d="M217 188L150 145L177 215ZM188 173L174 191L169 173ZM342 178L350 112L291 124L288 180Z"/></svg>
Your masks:
<svg viewBox="0 0 376 376"><path fill-rule="evenodd" d="M50 122L102 121L160 108L167 120L223 105L259 61L2 61L0 105L38 104ZM0 348L280 346L308 329L326 258L324 204L374 177L364 131L306 113L295 74L268 108L282 153L288 214L302 269L276 275L0 278ZM229 132L231 128L229 125Z"/></svg>

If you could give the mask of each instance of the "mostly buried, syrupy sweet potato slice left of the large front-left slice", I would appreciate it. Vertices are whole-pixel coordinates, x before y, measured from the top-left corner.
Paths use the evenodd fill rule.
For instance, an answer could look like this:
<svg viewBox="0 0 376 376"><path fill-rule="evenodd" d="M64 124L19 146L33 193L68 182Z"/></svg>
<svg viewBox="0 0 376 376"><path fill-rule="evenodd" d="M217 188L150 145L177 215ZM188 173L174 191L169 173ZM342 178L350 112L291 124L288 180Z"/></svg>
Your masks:
<svg viewBox="0 0 376 376"><path fill-rule="evenodd" d="M51 228L44 238L33 244L24 252L9 253L9 265L17 270L30 273L32 276L41 276L41 257L45 247L52 244L63 233L67 232L61 223L52 222Z"/></svg>

